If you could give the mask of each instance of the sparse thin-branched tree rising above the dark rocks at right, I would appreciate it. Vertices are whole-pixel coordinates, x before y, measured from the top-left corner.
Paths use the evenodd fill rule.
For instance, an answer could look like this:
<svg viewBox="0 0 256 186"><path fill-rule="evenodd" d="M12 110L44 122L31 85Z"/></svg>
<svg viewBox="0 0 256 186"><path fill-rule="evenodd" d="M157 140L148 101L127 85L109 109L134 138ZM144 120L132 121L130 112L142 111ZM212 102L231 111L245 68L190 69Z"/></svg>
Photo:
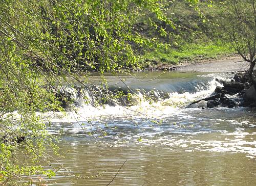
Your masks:
<svg viewBox="0 0 256 186"><path fill-rule="evenodd" d="M249 74L256 63L256 1L221 1L223 31L233 48L250 63Z"/></svg>

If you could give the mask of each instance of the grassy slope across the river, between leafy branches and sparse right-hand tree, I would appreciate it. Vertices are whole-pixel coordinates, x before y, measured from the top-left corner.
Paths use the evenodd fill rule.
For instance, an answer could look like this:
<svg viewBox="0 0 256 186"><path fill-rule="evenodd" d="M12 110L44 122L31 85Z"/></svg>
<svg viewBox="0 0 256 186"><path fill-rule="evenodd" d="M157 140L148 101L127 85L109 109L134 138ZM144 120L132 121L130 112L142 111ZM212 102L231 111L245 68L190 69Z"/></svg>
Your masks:
<svg viewBox="0 0 256 186"><path fill-rule="evenodd" d="M146 26L145 19L140 18L139 25L144 25L144 35L159 38L162 43L170 45L167 49L155 48L142 52L139 54L140 63L177 65L233 55L234 49L225 41L217 25L221 20L218 7L214 5L209 8L205 3L199 3L199 8L204 17L183 1L170 4L165 13L178 26L172 30L164 25L170 33L167 37L159 37L156 31ZM154 16L150 17L155 20Z"/></svg>

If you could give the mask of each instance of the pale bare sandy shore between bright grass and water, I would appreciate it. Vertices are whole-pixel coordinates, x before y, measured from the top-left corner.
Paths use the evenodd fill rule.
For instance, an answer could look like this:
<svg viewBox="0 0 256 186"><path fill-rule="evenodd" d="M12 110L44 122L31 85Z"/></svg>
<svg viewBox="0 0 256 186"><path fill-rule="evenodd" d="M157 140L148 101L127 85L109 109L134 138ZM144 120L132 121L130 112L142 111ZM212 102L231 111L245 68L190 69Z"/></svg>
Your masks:
<svg viewBox="0 0 256 186"><path fill-rule="evenodd" d="M228 57L221 60L212 60L197 64L178 66L182 72L231 72L248 70L249 63L241 62L241 57Z"/></svg>

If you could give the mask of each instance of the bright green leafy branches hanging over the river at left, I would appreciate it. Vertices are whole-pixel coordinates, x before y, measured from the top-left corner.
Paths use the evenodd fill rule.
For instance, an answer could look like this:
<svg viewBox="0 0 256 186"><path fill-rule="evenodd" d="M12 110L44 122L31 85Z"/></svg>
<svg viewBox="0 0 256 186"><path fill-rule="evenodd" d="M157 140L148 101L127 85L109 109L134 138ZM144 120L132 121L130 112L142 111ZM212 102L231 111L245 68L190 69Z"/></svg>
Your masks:
<svg viewBox="0 0 256 186"><path fill-rule="evenodd" d="M136 13L152 12L175 29L164 6L156 0L1 1L0 185L31 184L23 175L54 176L58 169L45 149L57 147L36 113L61 110L54 93L60 78L84 83L88 70L116 73L139 66L132 45L163 44L133 29Z"/></svg>

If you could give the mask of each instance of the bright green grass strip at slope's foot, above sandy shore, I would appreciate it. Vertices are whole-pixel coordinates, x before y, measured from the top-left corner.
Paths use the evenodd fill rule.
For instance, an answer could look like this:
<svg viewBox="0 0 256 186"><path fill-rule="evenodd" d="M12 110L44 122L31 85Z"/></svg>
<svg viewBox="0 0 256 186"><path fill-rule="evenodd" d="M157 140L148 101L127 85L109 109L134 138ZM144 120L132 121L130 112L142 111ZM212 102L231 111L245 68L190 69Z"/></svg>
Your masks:
<svg viewBox="0 0 256 186"><path fill-rule="evenodd" d="M183 62L220 58L234 54L234 50L226 43L185 43L177 49L156 49L142 56L142 61L157 63L181 64Z"/></svg>

